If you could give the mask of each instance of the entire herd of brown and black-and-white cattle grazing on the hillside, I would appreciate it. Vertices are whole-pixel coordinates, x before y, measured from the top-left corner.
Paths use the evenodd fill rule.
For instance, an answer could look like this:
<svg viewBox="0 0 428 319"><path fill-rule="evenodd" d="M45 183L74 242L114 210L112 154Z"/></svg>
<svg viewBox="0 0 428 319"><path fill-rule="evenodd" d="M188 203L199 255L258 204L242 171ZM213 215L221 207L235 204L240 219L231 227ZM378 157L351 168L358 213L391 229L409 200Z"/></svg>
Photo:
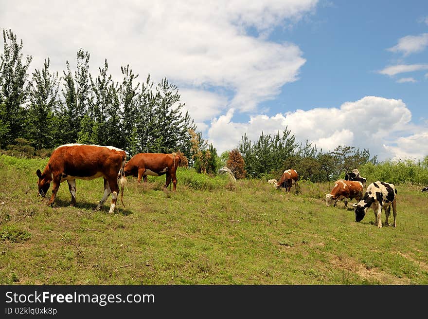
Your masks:
<svg viewBox="0 0 428 319"><path fill-rule="evenodd" d="M147 175L165 174L164 188L167 188L172 180L173 190L176 190L176 171L179 163L180 157L175 153L139 153L126 162L125 151L115 147L82 144L61 145L53 151L43 173L39 169L36 171L38 194L45 196L52 183L52 195L48 202L48 205L52 206L59 185L67 181L71 194L71 206L74 206L76 204L76 179L92 180L103 177L104 195L95 210L101 209L108 196L112 194L109 213L113 213L119 194L119 185L122 189L121 201L124 205L123 193L126 176L137 177L138 183L141 183L142 178L144 182L147 182ZM268 183L277 189L285 188L285 191L290 191L292 185L297 186L298 178L299 175L295 169L287 169L279 182L271 179L268 180ZM356 199L357 203L353 205L356 222L360 222L367 209L371 207L375 212L375 225L379 228L382 227L382 208L385 211L384 225L390 225L388 218L392 206L393 226L396 227L397 190L394 185L377 181L370 184L364 192L366 181L367 179L361 177L357 169L346 173L345 179L337 180L330 193L325 194L326 205L336 206L339 200L343 200L346 208L348 199ZM428 191L428 187L422 191Z"/></svg>

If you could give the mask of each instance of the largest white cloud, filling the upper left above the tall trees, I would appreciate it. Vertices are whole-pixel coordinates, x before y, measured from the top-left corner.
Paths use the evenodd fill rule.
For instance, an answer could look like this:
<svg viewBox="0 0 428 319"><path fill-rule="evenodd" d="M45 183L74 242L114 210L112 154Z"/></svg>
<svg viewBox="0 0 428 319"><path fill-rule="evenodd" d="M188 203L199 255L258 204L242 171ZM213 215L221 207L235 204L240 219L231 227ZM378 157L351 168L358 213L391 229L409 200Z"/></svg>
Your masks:
<svg viewBox="0 0 428 319"><path fill-rule="evenodd" d="M254 111L285 83L298 79L305 59L295 44L251 37L246 27L268 34L279 23L295 23L310 14L317 2L3 1L0 21L34 56L30 70L41 68L49 56L52 68L62 73L65 61L74 66L76 52L83 48L91 55L94 75L107 58L117 80L120 66L129 64L134 73L150 73L155 82L167 77L180 88L223 88L232 94L231 107ZM207 110L213 98L207 102L198 103Z"/></svg>

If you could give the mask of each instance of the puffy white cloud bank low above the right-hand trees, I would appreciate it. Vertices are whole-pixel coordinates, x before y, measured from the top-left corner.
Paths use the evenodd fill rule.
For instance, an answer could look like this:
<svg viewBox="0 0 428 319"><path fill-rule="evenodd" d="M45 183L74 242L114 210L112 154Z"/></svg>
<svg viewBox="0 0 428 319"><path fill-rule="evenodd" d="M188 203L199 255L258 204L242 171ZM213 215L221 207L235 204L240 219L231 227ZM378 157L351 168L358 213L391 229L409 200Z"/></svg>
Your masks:
<svg viewBox="0 0 428 319"><path fill-rule="evenodd" d="M393 144L397 139L405 142L415 131L423 139L426 134L421 132L427 131L427 128L411 124L410 110L402 100L378 96L346 102L339 108L252 116L247 123L235 123L232 116L233 110L229 110L214 119L208 131L209 139L220 152L239 145L244 133L250 140L256 141L262 131L273 135L288 128L297 142L309 140L324 151L334 150L339 145L355 146L361 150L368 149L372 155L378 155L383 160L400 156L397 146ZM425 143L428 145L428 140ZM415 145L409 146L406 152L420 157L424 150Z"/></svg>

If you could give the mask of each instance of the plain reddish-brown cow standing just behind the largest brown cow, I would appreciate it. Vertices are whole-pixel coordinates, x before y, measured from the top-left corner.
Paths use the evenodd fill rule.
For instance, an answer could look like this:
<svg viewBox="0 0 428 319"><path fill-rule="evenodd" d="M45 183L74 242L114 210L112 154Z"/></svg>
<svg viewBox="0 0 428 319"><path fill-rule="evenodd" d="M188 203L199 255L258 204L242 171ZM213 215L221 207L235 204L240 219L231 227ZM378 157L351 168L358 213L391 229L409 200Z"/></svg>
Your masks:
<svg viewBox="0 0 428 319"><path fill-rule="evenodd" d="M125 176L137 177L137 182L147 182L147 175L160 176L166 174L166 183L163 188L167 188L171 183L173 190L177 189L176 171L181 158L176 154L164 153L138 153L134 155L125 165Z"/></svg>

